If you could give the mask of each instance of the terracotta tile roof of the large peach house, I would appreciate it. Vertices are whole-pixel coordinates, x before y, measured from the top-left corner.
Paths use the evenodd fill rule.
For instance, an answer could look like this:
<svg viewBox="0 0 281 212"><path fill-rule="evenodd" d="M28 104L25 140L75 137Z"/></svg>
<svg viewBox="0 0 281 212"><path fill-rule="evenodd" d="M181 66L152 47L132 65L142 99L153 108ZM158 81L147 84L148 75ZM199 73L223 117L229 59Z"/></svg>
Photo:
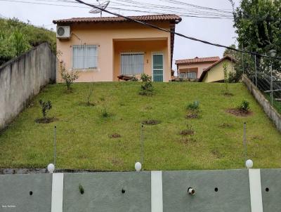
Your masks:
<svg viewBox="0 0 281 212"><path fill-rule="evenodd" d="M181 22L181 17L178 15L166 14L166 15L138 15L138 16L128 16L133 20L139 21L170 21L174 23ZM69 24L77 22L129 22L121 17L102 17L102 18L69 18L61 20L53 20L54 24Z"/></svg>

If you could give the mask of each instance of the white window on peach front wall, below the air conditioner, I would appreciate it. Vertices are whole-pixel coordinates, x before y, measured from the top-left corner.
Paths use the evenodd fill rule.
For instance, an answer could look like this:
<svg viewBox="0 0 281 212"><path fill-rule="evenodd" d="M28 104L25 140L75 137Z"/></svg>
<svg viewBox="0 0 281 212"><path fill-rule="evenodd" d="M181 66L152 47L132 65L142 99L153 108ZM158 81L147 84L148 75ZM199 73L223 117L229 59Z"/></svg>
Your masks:
<svg viewBox="0 0 281 212"><path fill-rule="evenodd" d="M73 46L73 69L98 67L98 46Z"/></svg>

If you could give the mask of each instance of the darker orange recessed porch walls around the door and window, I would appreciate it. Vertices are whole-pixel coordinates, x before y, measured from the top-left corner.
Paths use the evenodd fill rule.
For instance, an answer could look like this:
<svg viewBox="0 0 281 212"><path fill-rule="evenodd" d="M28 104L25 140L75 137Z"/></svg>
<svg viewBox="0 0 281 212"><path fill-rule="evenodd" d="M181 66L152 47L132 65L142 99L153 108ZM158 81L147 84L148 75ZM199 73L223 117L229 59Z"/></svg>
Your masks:
<svg viewBox="0 0 281 212"><path fill-rule="evenodd" d="M171 80L171 62L169 59L167 39L153 40L153 41L115 41L115 54L114 54L114 81L118 81L117 76L121 74L120 69L120 55L121 53L128 52L143 52L145 55L144 72L145 74L152 75L152 54L164 54L164 81Z"/></svg>

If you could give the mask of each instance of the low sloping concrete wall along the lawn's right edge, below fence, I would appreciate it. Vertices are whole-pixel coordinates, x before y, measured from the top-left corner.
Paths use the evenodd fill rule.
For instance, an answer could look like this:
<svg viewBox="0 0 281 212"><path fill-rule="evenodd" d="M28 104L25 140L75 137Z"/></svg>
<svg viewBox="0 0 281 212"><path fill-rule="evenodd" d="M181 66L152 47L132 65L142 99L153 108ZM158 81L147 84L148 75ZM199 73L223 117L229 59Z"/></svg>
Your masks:
<svg viewBox="0 0 281 212"><path fill-rule="evenodd" d="M268 117L274 122L276 128L281 132L281 115L271 106L270 102L264 97L263 93L259 91L249 78L243 74L242 81L247 86L248 90L254 95L254 98L259 102Z"/></svg>

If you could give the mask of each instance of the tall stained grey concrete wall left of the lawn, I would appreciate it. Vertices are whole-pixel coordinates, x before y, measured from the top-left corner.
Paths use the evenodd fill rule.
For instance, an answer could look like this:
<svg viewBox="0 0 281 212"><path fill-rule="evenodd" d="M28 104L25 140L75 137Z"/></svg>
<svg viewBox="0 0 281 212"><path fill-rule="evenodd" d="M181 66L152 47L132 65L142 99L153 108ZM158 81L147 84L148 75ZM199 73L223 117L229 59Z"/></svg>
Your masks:
<svg viewBox="0 0 281 212"><path fill-rule="evenodd" d="M11 122L50 79L55 80L55 55L41 44L0 67L0 129Z"/></svg>

